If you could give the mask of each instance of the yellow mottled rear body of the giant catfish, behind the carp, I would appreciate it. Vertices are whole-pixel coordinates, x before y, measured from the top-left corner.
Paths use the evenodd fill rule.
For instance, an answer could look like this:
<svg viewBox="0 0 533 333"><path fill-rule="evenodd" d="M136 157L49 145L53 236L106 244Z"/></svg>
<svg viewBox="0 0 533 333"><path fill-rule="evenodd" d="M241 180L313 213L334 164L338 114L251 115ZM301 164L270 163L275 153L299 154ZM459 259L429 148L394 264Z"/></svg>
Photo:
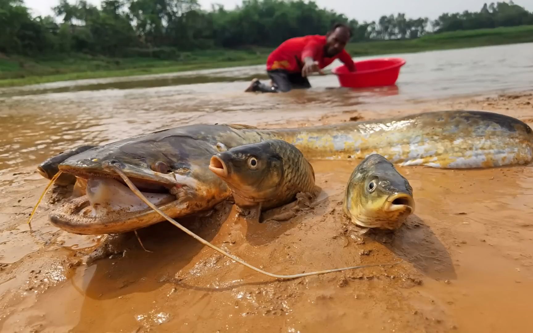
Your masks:
<svg viewBox="0 0 533 333"><path fill-rule="evenodd" d="M298 131L298 133L295 133ZM436 111L398 118L272 131L306 158L358 158L435 168L523 165L533 160L533 132L522 121L483 111Z"/></svg>

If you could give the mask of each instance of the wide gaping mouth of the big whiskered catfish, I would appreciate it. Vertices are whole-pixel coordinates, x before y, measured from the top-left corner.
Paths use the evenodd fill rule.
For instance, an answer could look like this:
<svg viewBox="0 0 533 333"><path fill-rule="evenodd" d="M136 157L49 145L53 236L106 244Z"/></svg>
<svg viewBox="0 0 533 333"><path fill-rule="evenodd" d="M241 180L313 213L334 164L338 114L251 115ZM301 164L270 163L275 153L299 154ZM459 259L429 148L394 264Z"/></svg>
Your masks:
<svg viewBox="0 0 533 333"><path fill-rule="evenodd" d="M177 216L190 210L184 197L190 198L190 194L193 194L190 190L194 189L176 180L176 177L185 176L152 175L129 166L126 168L128 178L139 191L166 214ZM66 165L61 165L60 170L77 177L74 186L76 194L73 193L73 197L49 216L52 224L60 229L77 234L122 233L164 220L112 170Z"/></svg>

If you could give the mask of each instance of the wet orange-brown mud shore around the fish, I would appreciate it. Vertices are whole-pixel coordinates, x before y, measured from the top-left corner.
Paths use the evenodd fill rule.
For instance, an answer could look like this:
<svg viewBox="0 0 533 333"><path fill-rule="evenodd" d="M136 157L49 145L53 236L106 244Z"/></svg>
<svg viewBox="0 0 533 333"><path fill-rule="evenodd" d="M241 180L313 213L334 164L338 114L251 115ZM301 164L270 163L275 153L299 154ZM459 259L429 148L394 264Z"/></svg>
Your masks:
<svg viewBox="0 0 533 333"><path fill-rule="evenodd" d="M533 126L533 94L437 100L407 109L356 105L287 126L399 114L487 110ZM256 124L251 124L256 125ZM259 124L279 126L279 124ZM185 225L276 273L404 261L273 281L203 247L169 223L81 236L54 228L46 180L22 168L0 189L1 332L530 332L533 166L398 168L416 212L394 234L360 235L340 209L357 161L312 161L319 204L284 223L252 225L222 205ZM51 196L47 196L47 199ZM53 197L53 195L52 195Z"/></svg>

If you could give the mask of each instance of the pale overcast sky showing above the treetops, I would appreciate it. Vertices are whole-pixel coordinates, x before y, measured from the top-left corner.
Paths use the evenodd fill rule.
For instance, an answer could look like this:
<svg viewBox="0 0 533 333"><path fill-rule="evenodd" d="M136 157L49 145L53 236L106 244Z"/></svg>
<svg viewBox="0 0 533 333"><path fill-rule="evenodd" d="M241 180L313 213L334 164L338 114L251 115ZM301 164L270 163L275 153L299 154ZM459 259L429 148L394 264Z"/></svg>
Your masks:
<svg viewBox="0 0 533 333"><path fill-rule="evenodd" d="M70 2L74 3L75 0ZM87 2L100 4L100 0L87 0ZM231 9L241 2L241 0L199 0L205 9L209 9L212 3L220 3ZM373 21L382 15L398 12L406 13L410 18L436 19L444 12L479 11L483 3L490 3L482 0L316 0L315 2L320 7L335 10L358 21ZM58 4L59 0L25 0L25 3L34 15L44 16L52 14L51 7ZM533 11L533 0L514 0L514 3Z"/></svg>

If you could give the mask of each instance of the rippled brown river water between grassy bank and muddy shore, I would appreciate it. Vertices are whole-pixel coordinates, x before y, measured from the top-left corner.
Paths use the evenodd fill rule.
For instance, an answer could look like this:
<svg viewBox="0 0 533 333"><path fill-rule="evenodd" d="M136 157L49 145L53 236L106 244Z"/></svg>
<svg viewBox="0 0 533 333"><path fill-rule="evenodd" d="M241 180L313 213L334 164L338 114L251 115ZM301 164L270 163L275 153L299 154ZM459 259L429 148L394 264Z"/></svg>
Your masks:
<svg viewBox="0 0 533 333"><path fill-rule="evenodd" d="M191 123L271 122L353 111L361 103L520 90L533 83L533 44L400 54L397 85L339 88L334 75L313 88L246 94L264 66L57 82L0 90L0 186L22 167L78 144L100 144ZM370 58L370 57L366 57ZM360 59L366 59L360 58ZM332 67L339 63L332 64Z"/></svg>

